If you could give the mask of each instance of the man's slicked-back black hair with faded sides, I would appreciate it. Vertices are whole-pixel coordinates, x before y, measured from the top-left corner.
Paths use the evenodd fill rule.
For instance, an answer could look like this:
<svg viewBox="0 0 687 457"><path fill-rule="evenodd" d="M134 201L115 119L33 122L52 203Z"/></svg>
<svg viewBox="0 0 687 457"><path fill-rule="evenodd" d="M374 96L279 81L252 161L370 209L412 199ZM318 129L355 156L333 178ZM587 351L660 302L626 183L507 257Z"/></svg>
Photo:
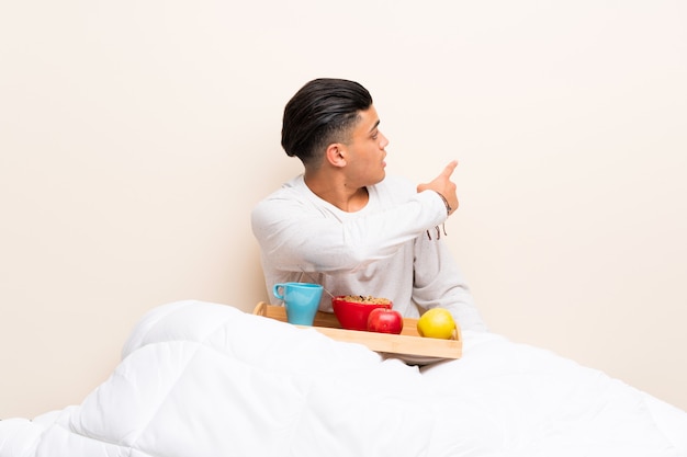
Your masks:
<svg viewBox="0 0 687 457"><path fill-rule="evenodd" d="M306 83L286 103L281 145L290 157L314 163L333 142L348 140L358 112L372 105L370 92L345 79L320 78Z"/></svg>

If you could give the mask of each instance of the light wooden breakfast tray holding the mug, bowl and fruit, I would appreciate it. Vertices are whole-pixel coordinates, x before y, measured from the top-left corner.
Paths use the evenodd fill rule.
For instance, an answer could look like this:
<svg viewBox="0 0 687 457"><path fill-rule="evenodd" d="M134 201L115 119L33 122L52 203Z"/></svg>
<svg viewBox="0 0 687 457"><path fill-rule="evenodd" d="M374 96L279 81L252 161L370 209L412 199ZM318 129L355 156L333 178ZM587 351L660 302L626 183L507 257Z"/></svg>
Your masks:
<svg viewBox="0 0 687 457"><path fill-rule="evenodd" d="M252 313L286 322L286 310L282 306L260 301ZM447 358L460 358L463 350L460 329L457 329L452 340L421 338L417 333L417 319L413 318L403 319L403 331L398 335L345 330L341 329L334 313L322 311L317 311L312 328L334 340L364 344L384 356L401 358L412 365L427 365Z"/></svg>

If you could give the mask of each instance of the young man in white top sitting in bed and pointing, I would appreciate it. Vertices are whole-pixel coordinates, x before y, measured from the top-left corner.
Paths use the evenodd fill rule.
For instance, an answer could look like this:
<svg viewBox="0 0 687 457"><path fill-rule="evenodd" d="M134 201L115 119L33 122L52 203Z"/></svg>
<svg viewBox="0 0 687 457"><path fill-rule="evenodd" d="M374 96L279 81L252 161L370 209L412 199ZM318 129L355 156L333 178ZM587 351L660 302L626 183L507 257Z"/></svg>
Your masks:
<svg viewBox="0 0 687 457"><path fill-rule="evenodd" d="M353 81L316 79L286 104L282 147L304 173L251 215L271 300L275 283L316 282L335 296L388 298L406 317L447 308L463 330L485 330L440 240L458 207L458 162L417 187L386 176L379 125L370 93ZM324 294L320 310L330 301Z"/></svg>

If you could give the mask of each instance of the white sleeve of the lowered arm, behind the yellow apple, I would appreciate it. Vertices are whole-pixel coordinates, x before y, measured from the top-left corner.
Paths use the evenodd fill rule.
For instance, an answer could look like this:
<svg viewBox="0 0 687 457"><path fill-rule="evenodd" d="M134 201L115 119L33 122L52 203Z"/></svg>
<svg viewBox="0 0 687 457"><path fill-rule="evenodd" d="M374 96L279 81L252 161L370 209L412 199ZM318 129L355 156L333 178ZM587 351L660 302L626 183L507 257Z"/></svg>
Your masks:
<svg viewBox="0 0 687 457"><path fill-rule="evenodd" d="M414 270L413 300L421 310L446 308L461 330L487 330L458 264L440 239L416 239Z"/></svg>

